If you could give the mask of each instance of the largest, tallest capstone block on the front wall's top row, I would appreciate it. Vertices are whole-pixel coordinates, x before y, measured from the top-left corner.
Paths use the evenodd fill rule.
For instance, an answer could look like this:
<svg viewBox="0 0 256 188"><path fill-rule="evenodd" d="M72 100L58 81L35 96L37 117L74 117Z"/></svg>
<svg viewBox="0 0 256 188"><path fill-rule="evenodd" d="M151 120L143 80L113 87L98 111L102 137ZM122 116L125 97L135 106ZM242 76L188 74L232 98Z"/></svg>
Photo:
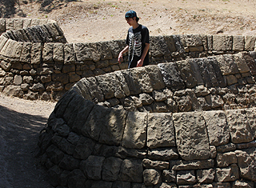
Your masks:
<svg viewBox="0 0 256 188"><path fill-rule="evenodd" d="M201 113L173 114L178 153L185 160L210 158L206 124Z"/></svg>

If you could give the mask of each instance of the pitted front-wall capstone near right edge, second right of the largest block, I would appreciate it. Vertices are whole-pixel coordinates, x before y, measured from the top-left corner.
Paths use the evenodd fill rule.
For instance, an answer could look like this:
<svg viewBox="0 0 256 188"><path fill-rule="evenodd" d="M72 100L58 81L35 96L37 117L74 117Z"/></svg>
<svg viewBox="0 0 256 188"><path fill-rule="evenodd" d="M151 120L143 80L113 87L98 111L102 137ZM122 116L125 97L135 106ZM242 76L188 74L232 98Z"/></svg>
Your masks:
<svg viewBox="0 0 256 188"><path fill-rule="evenodd" d="M245 110L227 110L226 120L230 127L231 142L242 143L254 140Z"/></svg>

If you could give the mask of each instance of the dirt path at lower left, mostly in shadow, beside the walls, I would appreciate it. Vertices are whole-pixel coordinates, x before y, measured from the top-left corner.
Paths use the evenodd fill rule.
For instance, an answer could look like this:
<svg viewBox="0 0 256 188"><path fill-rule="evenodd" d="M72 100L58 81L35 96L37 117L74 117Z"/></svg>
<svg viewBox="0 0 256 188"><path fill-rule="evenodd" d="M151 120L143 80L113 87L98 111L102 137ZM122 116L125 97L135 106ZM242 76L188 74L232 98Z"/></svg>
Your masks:
<svg viewBox="0 0 256 188"><path fill-rule="evenodd" d="M0 187L51 188L34 157L38 133L54 102L26 101L0 94Z"/></svg>

